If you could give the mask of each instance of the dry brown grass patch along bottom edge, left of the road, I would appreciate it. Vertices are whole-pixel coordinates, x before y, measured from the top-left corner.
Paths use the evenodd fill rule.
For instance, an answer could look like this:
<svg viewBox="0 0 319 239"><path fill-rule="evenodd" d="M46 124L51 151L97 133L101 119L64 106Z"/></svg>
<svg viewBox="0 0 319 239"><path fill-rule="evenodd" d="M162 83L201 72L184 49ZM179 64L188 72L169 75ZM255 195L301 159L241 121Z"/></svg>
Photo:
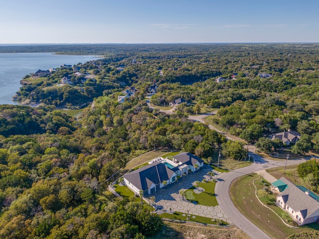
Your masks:
<svg viewBox="0 0 319 239"><path fill-rule="evenodd" d="M162 230L149 239L249 239L235 226L212 227L193 223L164 221Z"/></svg>

